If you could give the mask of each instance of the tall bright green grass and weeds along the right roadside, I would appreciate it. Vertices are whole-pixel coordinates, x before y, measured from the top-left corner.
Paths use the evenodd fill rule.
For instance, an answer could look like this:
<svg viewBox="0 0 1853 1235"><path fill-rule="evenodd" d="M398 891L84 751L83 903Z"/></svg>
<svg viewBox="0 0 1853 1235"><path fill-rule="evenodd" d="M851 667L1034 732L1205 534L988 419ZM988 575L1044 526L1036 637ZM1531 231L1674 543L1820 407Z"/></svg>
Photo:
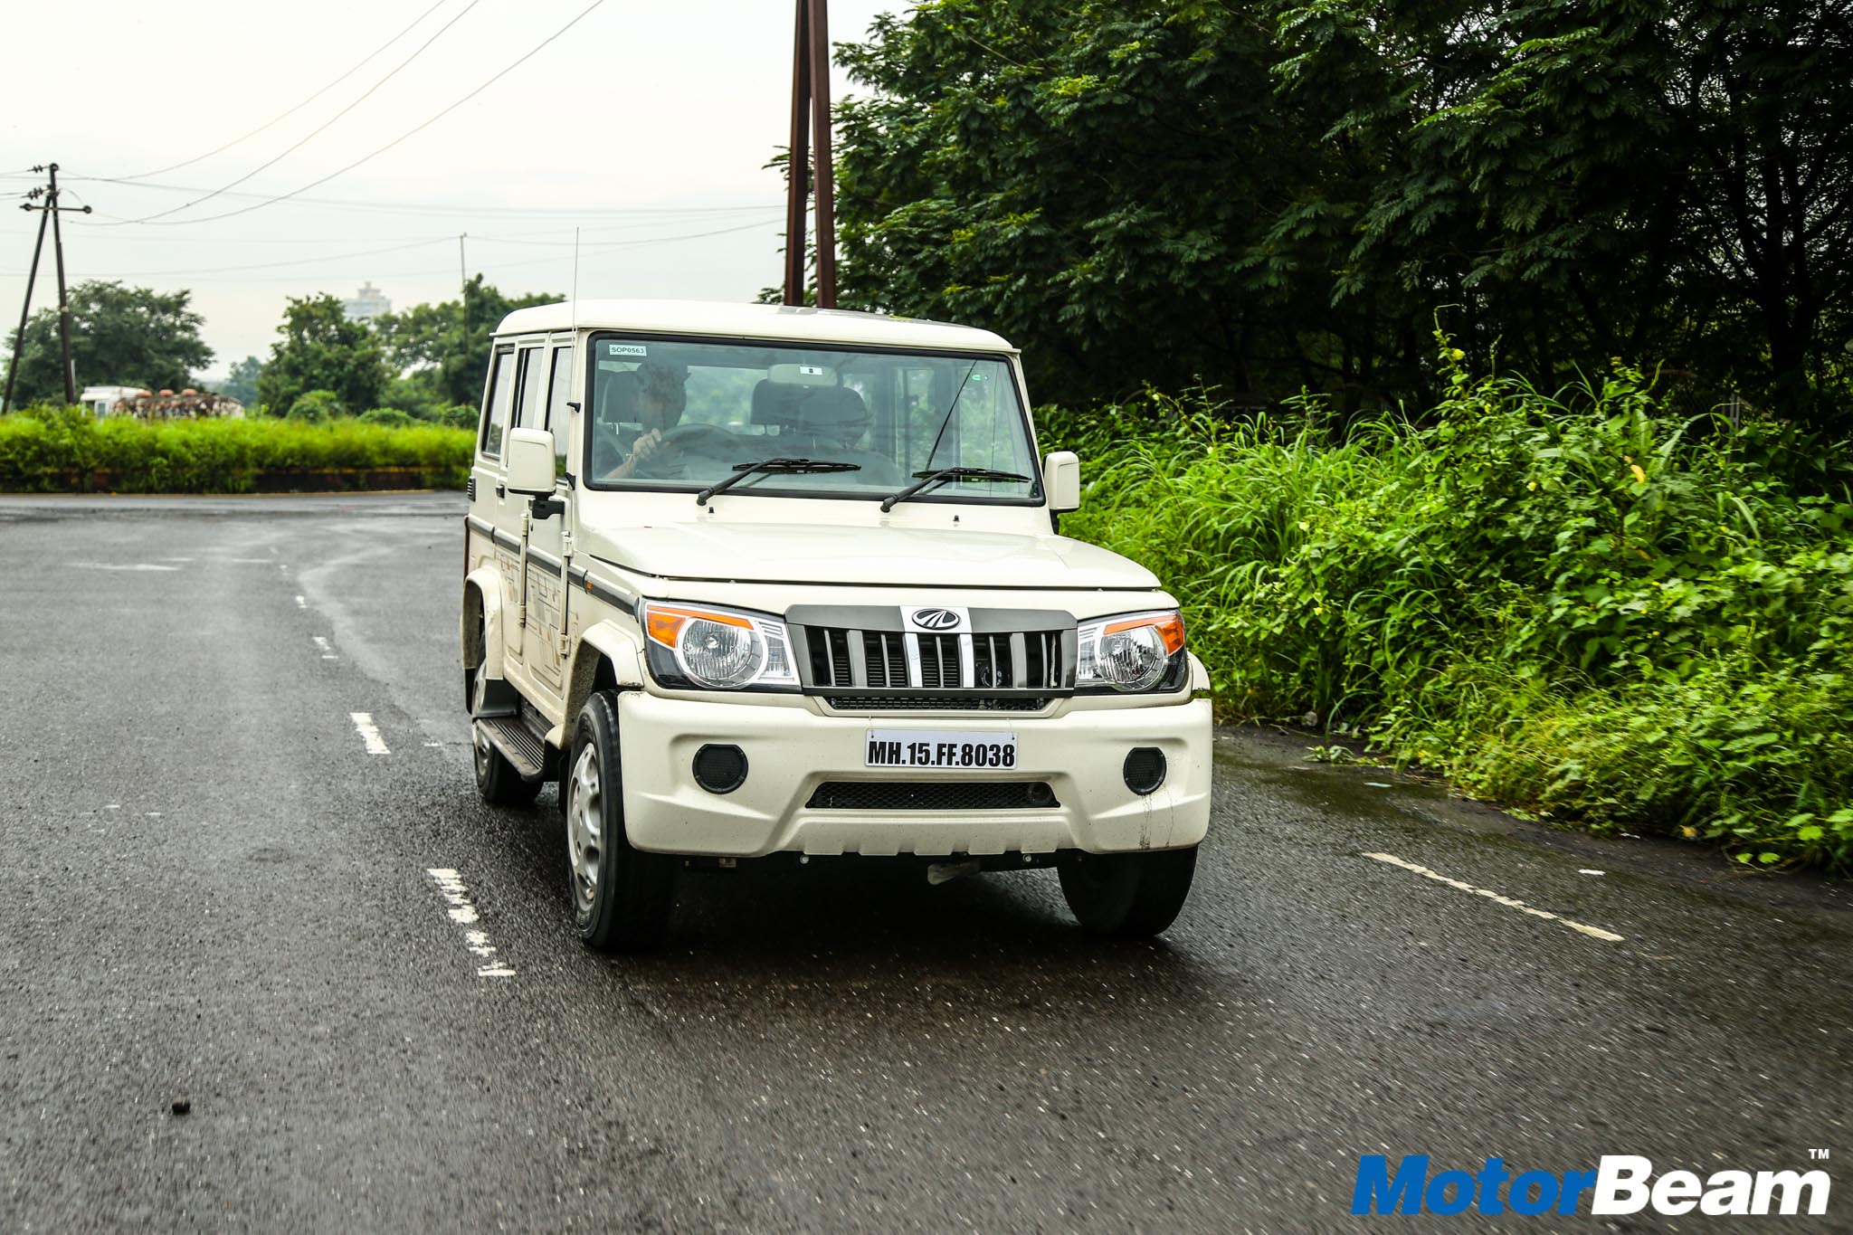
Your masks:
<svg viewBox="0 0 1853 1235"><path fill-rule="evenodd" d="M1045 417L1084 450L1064 531L1184 602L1229 718L1369 733L1590 828L1853 867L1853 457L1671 415L1618 365L1471 376L1419 417L1208 393Z"/></svg>

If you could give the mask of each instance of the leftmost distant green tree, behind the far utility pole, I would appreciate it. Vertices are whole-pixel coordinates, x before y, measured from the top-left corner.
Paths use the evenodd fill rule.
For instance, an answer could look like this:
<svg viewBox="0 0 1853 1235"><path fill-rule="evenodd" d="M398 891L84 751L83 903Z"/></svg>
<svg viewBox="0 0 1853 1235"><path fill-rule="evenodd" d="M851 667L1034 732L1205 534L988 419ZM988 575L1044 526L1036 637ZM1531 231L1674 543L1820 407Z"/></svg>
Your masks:
<svg viewBox="0 0 1853 1235"><path fill-rule="evenodd" d="M78 389L137 385L150 391L191 385L213 352L200 339L204 318L187 307L193 293L158 293L113 281L70 289L70 361ZM11 339L7 339L11 344ZM39 309L26 322L15 404L63 402L57 309Z"/></svg>

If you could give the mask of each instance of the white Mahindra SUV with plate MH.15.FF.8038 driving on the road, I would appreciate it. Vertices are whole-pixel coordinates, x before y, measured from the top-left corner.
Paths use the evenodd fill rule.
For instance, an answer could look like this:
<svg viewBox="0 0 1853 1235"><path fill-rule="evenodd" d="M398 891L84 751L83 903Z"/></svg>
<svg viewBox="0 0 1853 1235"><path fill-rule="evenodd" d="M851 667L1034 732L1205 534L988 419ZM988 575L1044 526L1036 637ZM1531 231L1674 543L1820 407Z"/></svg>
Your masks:
<svg viewBox="0 0 1853 1235"><path fill-rule="evenodd" d="M476 785L558 780L580 935L662 939L684 867L1056 867L1151 935L1210 817L1177 600L1058 535L1017 352L964 326L580 302L497 331L469 481Z"/></svg>

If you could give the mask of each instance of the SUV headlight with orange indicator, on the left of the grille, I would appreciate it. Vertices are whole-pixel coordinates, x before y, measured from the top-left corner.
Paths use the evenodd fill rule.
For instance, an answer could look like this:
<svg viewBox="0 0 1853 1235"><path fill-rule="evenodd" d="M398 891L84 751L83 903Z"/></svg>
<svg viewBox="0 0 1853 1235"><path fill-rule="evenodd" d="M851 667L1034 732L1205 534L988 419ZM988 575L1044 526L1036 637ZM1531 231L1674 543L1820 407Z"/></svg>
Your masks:
<svg viewBox="0 0 1853 1235"><path fill-rule="evenodd" d="M665 687L797 689L786 624L763 613L645 600L650 672Z"/></svg>

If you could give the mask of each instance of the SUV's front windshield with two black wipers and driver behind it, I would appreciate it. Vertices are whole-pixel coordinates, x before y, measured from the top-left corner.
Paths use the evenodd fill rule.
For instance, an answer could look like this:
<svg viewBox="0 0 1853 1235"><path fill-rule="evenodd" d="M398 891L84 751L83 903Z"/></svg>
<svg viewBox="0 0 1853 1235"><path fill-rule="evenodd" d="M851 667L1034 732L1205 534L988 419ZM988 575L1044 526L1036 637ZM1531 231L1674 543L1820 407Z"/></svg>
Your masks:
<svg viewBox="0 0 1853 1235"><path fill-rule="evenodd" d="M593 335L586 483L697 493L743 463L821 459L836 472L756 472L728 494L884 498L949 467L912 502L1040 504L1041 481L1010 363L845 344ZM719 500L725 500L719 498Z"/></svg>

